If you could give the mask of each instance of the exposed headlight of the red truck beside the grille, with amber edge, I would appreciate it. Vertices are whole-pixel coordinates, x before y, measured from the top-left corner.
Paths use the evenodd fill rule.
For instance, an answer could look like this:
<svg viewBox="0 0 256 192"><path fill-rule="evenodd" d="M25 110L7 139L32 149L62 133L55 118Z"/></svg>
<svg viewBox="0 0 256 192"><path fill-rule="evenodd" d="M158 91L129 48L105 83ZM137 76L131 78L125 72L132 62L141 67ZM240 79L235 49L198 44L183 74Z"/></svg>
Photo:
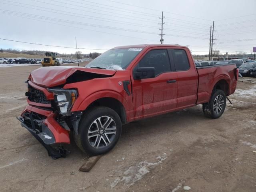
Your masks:
<svg viewBox="0 0 256 192"><path fill-rule="evenodd" d="M71 108L77 98L77 90L75 89L47 89L49 92L53 92L54 101L58 109L59 114L63 116L71 115Z"/></svg>

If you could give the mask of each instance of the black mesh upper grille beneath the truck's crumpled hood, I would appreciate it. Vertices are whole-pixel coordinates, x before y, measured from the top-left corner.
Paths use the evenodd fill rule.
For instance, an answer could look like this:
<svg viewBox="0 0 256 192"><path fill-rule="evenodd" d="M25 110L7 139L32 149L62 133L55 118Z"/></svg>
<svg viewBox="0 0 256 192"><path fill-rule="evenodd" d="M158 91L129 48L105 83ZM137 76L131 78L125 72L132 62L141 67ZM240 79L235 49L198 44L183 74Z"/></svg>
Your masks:
<svg viewBox="0 0 256 192"><path fill-rule="evenodd" d="M28 85L28 92L26 92L26 96L32 102L50 104L51 102L46 99L44 92L35 89L34 87Z"/></svg>

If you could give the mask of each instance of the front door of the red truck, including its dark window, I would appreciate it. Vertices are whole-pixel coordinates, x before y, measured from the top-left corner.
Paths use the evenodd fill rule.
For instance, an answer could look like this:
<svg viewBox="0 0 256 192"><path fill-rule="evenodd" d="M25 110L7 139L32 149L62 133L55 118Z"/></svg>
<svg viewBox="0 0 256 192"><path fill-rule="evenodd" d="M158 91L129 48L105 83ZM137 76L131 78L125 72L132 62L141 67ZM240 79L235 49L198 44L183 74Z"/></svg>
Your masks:
<svg viewBox="0 0 256 192"><path fill-rule="evenodd" d="M154 67L155 77L132 78L134 120L175 110L177 74L172 72L168 51L166 49L148 51L132 71L136 71L139 67Z"/></svg>

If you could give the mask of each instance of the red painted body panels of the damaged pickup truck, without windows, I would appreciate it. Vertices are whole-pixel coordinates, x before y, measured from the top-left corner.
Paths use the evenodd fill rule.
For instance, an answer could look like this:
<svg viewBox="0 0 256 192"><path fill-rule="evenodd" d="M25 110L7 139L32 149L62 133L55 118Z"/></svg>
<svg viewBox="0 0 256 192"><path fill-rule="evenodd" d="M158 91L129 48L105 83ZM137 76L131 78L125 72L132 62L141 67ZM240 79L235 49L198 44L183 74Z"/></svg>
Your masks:
<svg viewBox="0 0 256 192"><path fill-rule="evenodd" d="M78 90L78 98L72 107L72 112L86 110L97 99L114 98L124 106L127 122L208 102L212 90L219 80L225 80L228 83L228 95L234 93L236 89L238 78L237 74L235 74L235 65L214 66L197 70L190 50L185 46L178 45L135 45L116 48L130 47L143 48L143 50L134 58L126 70L115 71L59 66L43 67L31 73L29 84L42 90L48 100L53 99L52 93L46 89L48 87L64 85L64 89L76 88ZM146 53L154 49L185 50L190 63L189 70L164 72L155 78L134 80L133 69ZM106 74L111 77L94 78L66 84L66 79L77 70ZM125 92L123 85L119 84L119 82L127 80L130 81L128 85L130 96ZM176 82L167 84L166 81L168 80L176 80ZM42 106L32 102L28 102L28 104ZM40 114L48 113L32 107L31 110ZM61 137L66 136L67 131L54 120L54 114L48 114L47 117L48 120L45 121L45 124L48 124L49 128L56 134L54 136L56 138L58 138L57 134L61 134Z"/></svg>

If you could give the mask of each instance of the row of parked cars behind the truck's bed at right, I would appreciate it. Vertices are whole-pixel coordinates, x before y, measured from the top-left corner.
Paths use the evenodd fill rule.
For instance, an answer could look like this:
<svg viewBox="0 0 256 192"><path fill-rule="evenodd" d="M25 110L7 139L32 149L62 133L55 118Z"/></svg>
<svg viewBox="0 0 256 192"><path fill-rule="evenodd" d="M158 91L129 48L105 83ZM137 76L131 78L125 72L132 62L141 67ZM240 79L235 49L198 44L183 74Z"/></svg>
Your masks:
<svg viewBox="0 0 256 192"><path fill-rule="evenodd" d="M239 69L239 73L242 76L256 77L256 61L250 60L246 63L242 59L232 59L228 61L196 61L196 66L211 66L221 64L236 64Z"/></svg>

